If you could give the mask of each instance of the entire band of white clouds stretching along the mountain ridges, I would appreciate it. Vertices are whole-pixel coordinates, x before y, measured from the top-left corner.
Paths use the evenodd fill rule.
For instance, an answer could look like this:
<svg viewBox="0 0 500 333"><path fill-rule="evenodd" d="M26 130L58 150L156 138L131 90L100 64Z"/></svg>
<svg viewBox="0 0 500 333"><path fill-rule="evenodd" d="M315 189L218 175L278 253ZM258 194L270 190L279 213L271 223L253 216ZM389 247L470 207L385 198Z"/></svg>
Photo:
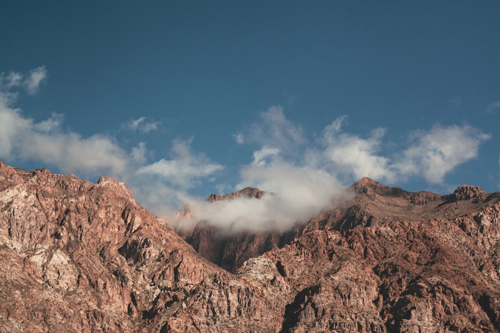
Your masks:
<svg viewBox="0 0 500 333"><path fill-rule="evenodd" d="M46 78L44 66L27 74L1 73L0 158L11 164L34 161L84 178L110 175L125 182L138 202L157 214L172 215L186 204L196 219L233 230L288 228L329 207L333 196L365 176L387 184L408 177L443 184L447 174L476 158L480 145L490 138L467 124L435 124L408 133L402 147L387 149L384 137L390 129L349 133L344 130L348 116L343 115L310 139L286 118L281 106L271 106L260 112L258 121L227 136L232 135L235 145L254 147L251 162L240 164L233 190L252 186L274 195L208 204L193 193L204 183L223 183L226 167L193 152L193 137L167 143L170 155L152 158L147 142L126 148L112 134L84 137L63 126L62 114L36 122L15 104L22 90L35 94ZM121 128L151 132L160 126L141 116Z"/></svg>

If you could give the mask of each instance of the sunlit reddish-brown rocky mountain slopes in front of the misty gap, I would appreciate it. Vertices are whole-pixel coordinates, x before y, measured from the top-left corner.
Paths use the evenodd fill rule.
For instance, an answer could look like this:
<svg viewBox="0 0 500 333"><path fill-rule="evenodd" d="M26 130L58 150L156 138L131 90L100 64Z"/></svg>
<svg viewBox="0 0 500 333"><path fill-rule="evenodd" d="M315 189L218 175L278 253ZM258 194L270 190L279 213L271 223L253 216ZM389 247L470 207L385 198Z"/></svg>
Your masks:
<svg viewBox="0 0 500 333"><path fill-rule="evenodd" d="M500 193L349 190L229 273L113 179L0 162L0 332L500 331Z"/></svg>

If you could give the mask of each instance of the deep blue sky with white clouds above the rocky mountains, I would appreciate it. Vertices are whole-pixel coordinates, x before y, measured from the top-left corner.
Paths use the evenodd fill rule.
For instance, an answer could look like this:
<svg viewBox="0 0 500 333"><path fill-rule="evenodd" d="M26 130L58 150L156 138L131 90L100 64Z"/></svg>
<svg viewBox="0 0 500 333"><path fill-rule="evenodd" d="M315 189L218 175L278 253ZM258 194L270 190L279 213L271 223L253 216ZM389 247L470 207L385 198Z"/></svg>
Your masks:
<svg viewBox="0 0 500 333"><path fill-rule="evenodd" d="M364 176L499 191L499 16L487 0L2 1L0 159L224 225L288 226ZM276 195L204 202L246 186Z"/></svg>

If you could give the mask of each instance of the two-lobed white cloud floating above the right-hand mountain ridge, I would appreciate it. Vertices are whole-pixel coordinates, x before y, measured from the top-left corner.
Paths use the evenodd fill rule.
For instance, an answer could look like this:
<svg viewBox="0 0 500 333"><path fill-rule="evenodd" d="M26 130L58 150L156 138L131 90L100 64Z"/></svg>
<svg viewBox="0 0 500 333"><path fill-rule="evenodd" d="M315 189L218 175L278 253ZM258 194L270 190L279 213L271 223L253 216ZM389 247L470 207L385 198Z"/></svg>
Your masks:
<svg viewBox="0 0 500 333"><path fill-rule="evenodd" d="M392 157L380 155L386 130L377 128L367 138L342 133L344 116L326 126L320 142L323 157L333 163L332 172L351 180L370 177L395 183L408 177L423 177L431 184L441 184L447 173L477 157L479 145L490 135L468 125L435 125L429 131L411 133L410 145Z"/></svg>

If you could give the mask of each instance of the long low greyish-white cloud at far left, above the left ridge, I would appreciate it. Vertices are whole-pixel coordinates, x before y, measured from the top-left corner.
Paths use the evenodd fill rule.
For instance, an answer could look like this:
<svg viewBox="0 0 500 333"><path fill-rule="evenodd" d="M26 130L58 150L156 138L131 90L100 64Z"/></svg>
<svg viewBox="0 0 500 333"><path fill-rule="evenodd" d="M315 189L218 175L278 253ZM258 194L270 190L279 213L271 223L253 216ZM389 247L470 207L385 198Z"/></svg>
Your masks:
<svg viewBox="0 0 500 333"><path fill-rule="evenodd" d="M35 123L18 109L0 104L0 156L8 159L37 160L55 165L65 173L118 176L127 165L126 153L111 138L62 132L62 116L52 114Z"/></svg>

